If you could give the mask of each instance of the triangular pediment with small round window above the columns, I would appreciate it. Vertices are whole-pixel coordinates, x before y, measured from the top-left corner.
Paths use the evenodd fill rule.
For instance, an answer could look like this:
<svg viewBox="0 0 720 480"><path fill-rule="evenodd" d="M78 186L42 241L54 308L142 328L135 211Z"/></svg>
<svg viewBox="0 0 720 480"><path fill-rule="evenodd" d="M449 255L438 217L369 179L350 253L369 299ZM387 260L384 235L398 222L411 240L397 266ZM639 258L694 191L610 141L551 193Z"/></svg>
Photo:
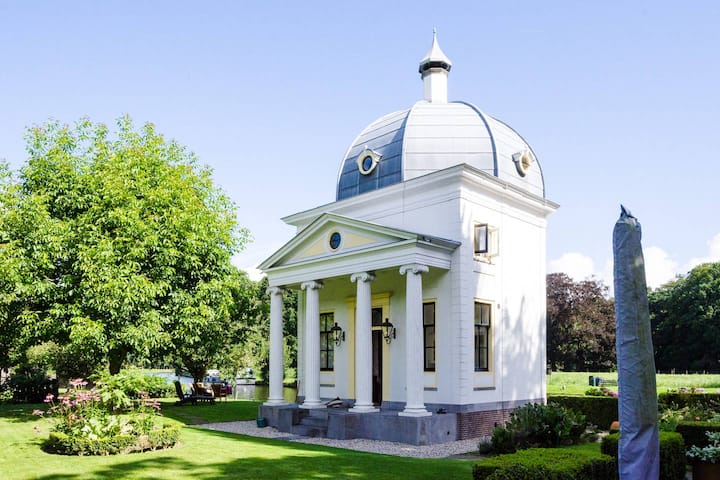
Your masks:
<svg viewBox="0 0 720 480"><path fill-rule="evenodd" d="M392 245L432 240L432 237L417 233L325 213L298 232L288 243L265 260L260 268L267 270L299 265L323 258L342 257L363 251L383 249ZM440 239L434 240L436 243L442 242Z"/></svg>

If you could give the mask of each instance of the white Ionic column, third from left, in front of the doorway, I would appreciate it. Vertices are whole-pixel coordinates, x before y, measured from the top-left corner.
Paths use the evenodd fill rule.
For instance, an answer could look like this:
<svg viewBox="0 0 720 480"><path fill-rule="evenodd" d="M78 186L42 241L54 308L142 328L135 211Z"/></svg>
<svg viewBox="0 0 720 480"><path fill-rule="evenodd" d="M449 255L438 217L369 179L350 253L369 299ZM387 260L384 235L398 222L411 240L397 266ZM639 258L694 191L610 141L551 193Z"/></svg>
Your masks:
<svg viewBox="0 0 720 480"><path fill-rule="evenodd" d="M351 412L369 413L378 409L372 403L372 302L370 282L375 276L368 272L353 273L357 283L355 304L355 405Z"/></svg>

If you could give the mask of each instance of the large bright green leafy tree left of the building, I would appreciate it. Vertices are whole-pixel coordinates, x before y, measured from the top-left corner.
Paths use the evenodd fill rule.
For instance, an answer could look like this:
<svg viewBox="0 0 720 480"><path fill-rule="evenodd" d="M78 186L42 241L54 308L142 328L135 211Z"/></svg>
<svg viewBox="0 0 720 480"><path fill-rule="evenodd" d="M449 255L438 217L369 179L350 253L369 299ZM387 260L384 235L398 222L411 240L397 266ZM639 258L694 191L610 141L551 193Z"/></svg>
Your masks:
<svg viewBox="0 0 720 480"><path fill-rule="evenodd" d="M230 318L230 257L247 240L194 154L151 124L117 127L31 128L18 181L4 177L0 241L15 347L53 340L69 368L102 361L111 373L211 341Z"/></svg>

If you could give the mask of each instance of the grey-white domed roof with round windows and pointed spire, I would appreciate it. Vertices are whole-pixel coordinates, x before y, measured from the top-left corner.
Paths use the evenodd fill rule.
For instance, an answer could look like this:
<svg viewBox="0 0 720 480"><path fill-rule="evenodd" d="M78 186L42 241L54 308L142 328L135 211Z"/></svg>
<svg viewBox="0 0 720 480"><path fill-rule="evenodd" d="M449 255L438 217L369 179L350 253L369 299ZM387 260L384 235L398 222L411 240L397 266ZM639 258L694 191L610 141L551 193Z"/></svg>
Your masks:
<svg viewBox="0 0 720 480"><path fill-rule="evenodd" d="M358 135L340 166L337 200L460 164L545 196L540 164L515 130L471 103L447 102L450 65L433 38L420 63L425 100L375 120Z"/></svg>

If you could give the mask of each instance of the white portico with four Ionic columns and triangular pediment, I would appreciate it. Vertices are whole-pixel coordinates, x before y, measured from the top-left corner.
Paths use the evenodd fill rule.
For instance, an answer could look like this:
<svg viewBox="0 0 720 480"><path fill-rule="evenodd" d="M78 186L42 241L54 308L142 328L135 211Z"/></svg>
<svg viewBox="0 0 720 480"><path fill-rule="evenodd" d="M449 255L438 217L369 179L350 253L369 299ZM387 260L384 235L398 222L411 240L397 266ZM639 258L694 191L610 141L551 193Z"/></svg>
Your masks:
<svg viewBox="0 0 720 480"><path fill-rule="evenodd" d="M333 249L330 240L339 235L340 243ZM327 251L320 252L318 240L327 240ZM457 242L420 235L399 229L382 227L369 222L345 218L336 214L324 214L298 234L293 241L280 249L264 266L271 286L268 293L270 302L270 395L267 406L281 406L282 400L282 290L295 288L302 292L304 315L302 322L302 409L325 408L321 401L321 296L326 282L332 282L335 290L354 287L354 322L340 320L340 327L352 339L354 362L346 357L338 359L342 352L340 345L333 349L334 365L354 364L352 372L339 372L333 368L333 375L354 378L351 385L354 398L343 396L337 389L335 397L349 401L349 412L377 413L382 403L373 402L373 284L376 272L385 278L385 284L392 283L397 298L405 297L405 315L393 318L394 347L405 350L404 384L406 398L404 407L397 414L401 416L427 416L430 413L424 404L424 368L422 349L414 348L423 343L423 286L422 277L430 269L439 272L450 269L452 253ZM361 269L360 267L365 267ZM367 269L372 266L373 269ZM402 279L404 286L397 280ZM345 284L344 286L340 286ZM387 287L383 285L387 294ZM389 315L389 312L388 312ZM390 317L383 318L388 322ZM353 331L348 326L354 323ZM377 322L376 322L377 324ZM375 325L377 328L377 325ZM399 342L404 342L401 345ZM347 341L343 347L347 347ZM397 355L396 355L397 357ZM334 367L333 365L333 367ZM327 365L326 365L327 367ZM377 367L377 365L376 365ZM382 368L382 366L380 367ZM334 386L334 385L333 385ZM327 385L326 385L327 388ZM348 389L349 391L350 389ZM334 398L334 397L333 397Z"/></svg>

